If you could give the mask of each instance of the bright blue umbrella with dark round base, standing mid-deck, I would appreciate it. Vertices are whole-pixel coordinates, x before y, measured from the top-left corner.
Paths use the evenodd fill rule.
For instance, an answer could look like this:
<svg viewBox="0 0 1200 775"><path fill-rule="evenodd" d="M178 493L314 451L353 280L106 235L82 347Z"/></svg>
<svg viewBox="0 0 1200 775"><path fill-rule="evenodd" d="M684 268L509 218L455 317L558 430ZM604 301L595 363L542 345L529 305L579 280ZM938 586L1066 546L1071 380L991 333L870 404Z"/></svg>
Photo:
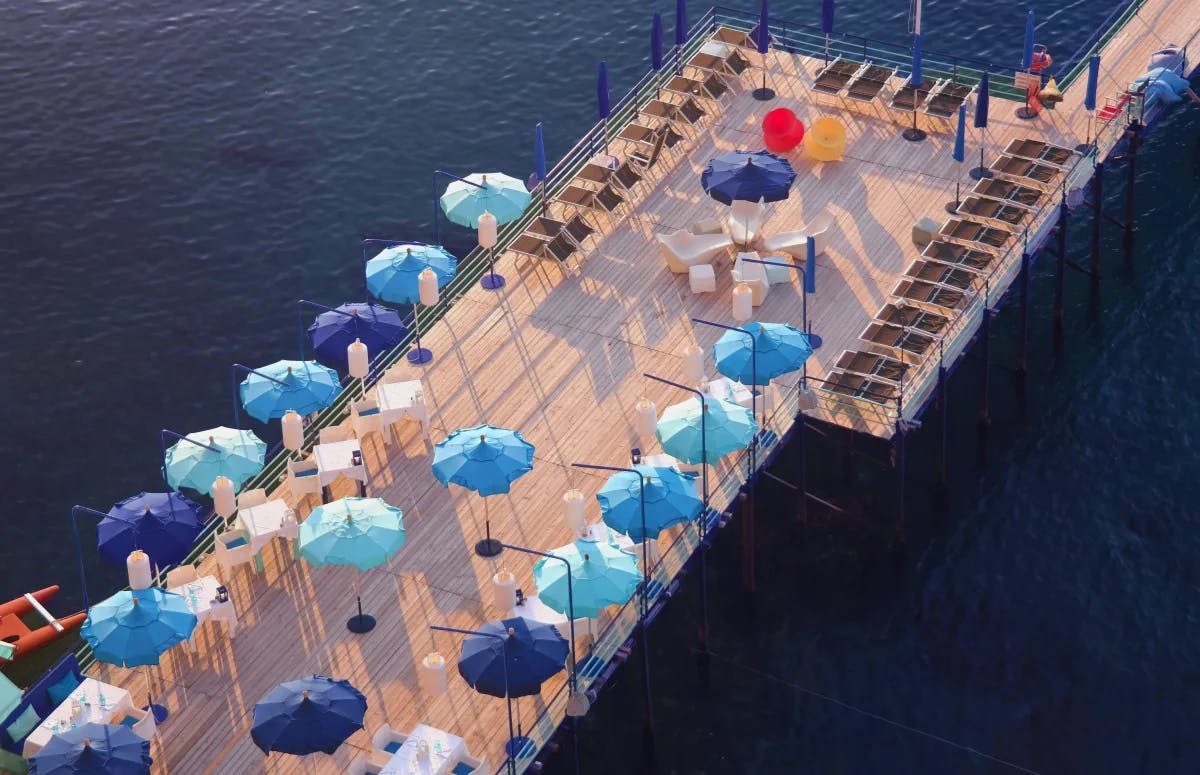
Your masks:
<svg viewBox="0 0 1200 775"><path fill-rule="evenodd" d="M460 428L434 446L433 476L446 487L455 483L480 495L498 495L533 470L533 444L520 431L491 425ZM486 537L475 545L475 552L496 557L502 547L492 537L491 518L485 518L484 528Z"/></svg>

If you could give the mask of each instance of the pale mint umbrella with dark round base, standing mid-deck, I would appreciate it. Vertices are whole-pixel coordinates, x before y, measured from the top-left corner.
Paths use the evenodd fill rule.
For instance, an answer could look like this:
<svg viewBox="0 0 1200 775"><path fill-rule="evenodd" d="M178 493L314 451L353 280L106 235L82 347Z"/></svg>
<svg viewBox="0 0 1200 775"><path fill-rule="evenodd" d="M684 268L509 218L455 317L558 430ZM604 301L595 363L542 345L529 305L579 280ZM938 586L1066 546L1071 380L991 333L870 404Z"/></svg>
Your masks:
<svg viewBox="0 0 1200 775"><path fill-rule="evenodd" d="M379 498L342 498L312 510L300 524L300 554L312 565L353 565L359 571L378 567L404 546L404 513ZM347 627L367 632L374 618L359 614Z"/></svg>

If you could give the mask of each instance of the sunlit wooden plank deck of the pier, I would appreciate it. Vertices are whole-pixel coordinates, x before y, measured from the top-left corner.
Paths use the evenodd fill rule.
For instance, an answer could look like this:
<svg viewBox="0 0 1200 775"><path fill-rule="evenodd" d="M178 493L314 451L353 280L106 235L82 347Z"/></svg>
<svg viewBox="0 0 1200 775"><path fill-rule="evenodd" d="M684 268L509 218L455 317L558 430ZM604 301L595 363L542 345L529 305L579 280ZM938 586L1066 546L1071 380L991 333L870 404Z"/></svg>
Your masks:
<svg viewBox="0 0 1200 775"><path fill-rule="evenodd" d="M1168 38L1183 42L1198 29L1200 2L1148 0L1104 48L1100 103L1142 72L1150 54ZM758 61L757 56L752 60ZM508 277L508 287L500 293L475 288L455 304L424 338L436 355L432 364L414 367L402 361L394 367L398 378L424 382L433 440L458 427L492 422L521 429L536 445L536 458L534 470L515 483L510 495L485 501L434 481L432 450L415 425L397 426L402 443L396 446L385 446L377 434L364 440L372 473L370 493L403 509L408 529L408 542L395 560L361 576L364 608L379 621L373 632L358 636L346 630L354 605L353 571L312 569L294 560L290 548L280 543L265 551L263 573L242 571L223 579L241 619L236 638L228 639L221 625L209 624L196 656L176 648L152 671L90 668L91 674L138 697L145 696L149 681L155 699L172 709L154 744L156 773L342 771L353 756L370 750L370 735L383 722L407 732L422 721L466 738L472 752L486 755L493 770L500 765L508 732L504 703L466 686L452 668L457 639L445 633L434 637L428 626L474 627L497 618L500 612L492 606L490 587L498 569L512 571L518 585L533 591L532 558L510 552L486 561L473 554L485 517L491 518L493 534L508 542L539 549L569 542L572 536L562 516L562 494L581 488L588 497L589 519L595 521L599 509L593 497L604 481L572 469L571 463L623 463L634 445L635 402L646 396L661 410L688 397L642 373L682 380L682 348L696 342L707 350L718 338L719 331L694 326L689 318L733 323L730 262L718 263L715 293L692 295L686 276L667 271L654 233L725 214L704 196L700 173L716 154L760 148L758 122L770 108L792 108L805 125L835 115L847 128L842 162L814 163L803 152L791 155L799 173L797 185L786 202L770 205L763 232L799 229L822 211L838 216L829 251L817 259L817 292L809 302L814 330L824 338L809 374L828 374L842 350L865 349L857 337L889 300L905 268L918 258L911 227L925 216L943 221L943 205L953 199L955 180L968 187L966 172L977 163L979 132L968 130L967 162L959 164L950 156L953 130L907 143L900 137L900 124L845 112L824 100L818 104L809 88L816 60L773 53L768 61L768 79L779 97L767 103L751 98L758 78L754 70L720 104L706 102L706 110L715 115L668 152L637 191L636 202L617 217L593 218L601 227L599 239L589 242L577 269L564 272L556 264L502 256L498 269ZM995 100L988 161L1016 138L1068 148L1082 142L1088 130L1088 116L1079 109L1082 92L1080 79L1057 110L1032 121L1015 118L1015 103ZM620 143L612 151L620 156ZM559 211L557 205L554 211ZM1008 258L1018 259L1019 252ZM1013 276L1007 275L1008 282ZM998 299L1002 290L992 288L992 298ZM791 284L770 289L755 319L799 324L800 305L797 276ZM967 319L961 326L973 328L971 323ZM918 379L932 384L936 368L916 371ZM774 427L781 434L794 415L796 379L785 378L779 393L782 401ZM928 390L918 388L916 395L928 396ZM917 408L906 407L905 415ZM848 414L824 402L811 414L883 438L894 429L886 417ZM714 495L719 510L738 482L732 467L732 462L718 467L726 476L725 488ZM349 491L347 482L337 485L337 494ZM680 545L684 553L695 543L695 529L688 530ZM678 558L668 560L665 573L678 565ZM218 573L211 555L200 572ZM431 697L418 687L416 663L434 649L451 663L450 689ZM253 704L275 684L311 673L346 678L359 686L370 703L367 729L332 757L264 757L248 734ZM562 674L547 683L541 697L520 701L527 729L564 680ZM536 737L544 739L560 717L559 704L542 717Z"/></svg>

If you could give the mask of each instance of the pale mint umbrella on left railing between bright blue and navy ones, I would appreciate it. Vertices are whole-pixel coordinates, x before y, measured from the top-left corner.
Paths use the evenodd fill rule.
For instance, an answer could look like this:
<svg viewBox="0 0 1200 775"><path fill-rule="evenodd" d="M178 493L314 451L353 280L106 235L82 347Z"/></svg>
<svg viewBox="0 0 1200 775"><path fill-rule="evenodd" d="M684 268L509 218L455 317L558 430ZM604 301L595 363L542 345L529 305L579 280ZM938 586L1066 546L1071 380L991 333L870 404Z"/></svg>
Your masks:
<svg viewBox="0 0 1200 775"><path fill-rule="evenodd" d="M220 426L188 433L188 441L176 441L163 456L167 483L212 494L217 476L240 489L246 480L263 470L266 444L250 431Z"/></svg>

